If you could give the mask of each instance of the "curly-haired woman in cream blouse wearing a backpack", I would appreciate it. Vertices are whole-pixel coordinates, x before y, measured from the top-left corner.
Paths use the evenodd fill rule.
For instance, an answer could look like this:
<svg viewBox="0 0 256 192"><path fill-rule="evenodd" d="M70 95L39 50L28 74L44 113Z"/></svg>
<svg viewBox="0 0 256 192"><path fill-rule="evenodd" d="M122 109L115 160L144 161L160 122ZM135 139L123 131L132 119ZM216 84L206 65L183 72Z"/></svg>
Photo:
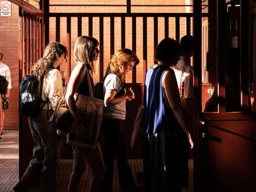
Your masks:
<svg viewBox="0 0 256 192"><path fill-rule="evenodd" d="M41 81L41 99L49 101L40 114L28 117L32 138L35 141L33 156L14 191L27 191L27 188L40 188L40 191L57 191L58 162L56 151L56 130L49 127L49 117L58 102L54 94L63 95L61 73L57 67L66 63L67 49L60 43L49 43L44 56L33 65L31 73Z"/></svg>

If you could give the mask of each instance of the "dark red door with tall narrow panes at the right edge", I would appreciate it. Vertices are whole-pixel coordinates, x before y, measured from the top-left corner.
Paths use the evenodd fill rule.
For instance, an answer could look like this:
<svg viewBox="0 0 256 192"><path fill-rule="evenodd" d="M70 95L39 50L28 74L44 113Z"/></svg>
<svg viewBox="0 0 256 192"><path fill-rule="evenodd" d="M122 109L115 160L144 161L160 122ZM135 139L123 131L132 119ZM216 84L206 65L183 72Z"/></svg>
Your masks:
<svg viewBox="0 0 256 192"><path fill-rule="evenodd" d="M254 99L251 71L255 61L250 58L255 54L255 17L251 22L254 25L249 25L249 1L217 1L211 6L216 6L216 12L210 15L215 14L217 20L216 31L209 26L212 34L208 64L212 70L208 72L210 79L216 80L209 80L216 97L208 102L213 107L201 106L202 74L200 67L195 67L194 90L198 97L194 106L197 117L194 191L253 192L256 191L256 115L251 103ZM251 36L250 30L254 30ZM194 55L195 61L198 56ZM204 107L208 112L202 111Z"/></svg>

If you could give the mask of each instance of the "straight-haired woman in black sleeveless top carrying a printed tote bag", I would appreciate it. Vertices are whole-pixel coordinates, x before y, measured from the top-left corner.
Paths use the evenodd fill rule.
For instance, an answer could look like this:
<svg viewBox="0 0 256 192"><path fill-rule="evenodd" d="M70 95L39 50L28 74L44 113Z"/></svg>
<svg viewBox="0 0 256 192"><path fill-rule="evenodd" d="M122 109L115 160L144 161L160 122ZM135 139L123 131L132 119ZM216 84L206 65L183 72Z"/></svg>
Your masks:
<svg viewBox="0 0 256 192"><path fill-rule="evenodd" d="M86 73L90 74L91 86L93 88L93 61L98 59L100 53L98 45L98 41L90 36L80 36L75 43L74 61L76 64L70 75L65 98L70 112L75 119L72 128L74 128L76 140L83 140L85 127L83 127L81 121L82 116L75 104L74 94L79 93L90 96ZM105 167L99 144L97 144L96 149L94 150L74 145L72 145L72 148L74 162L73 170L69 179L68 191L75 192L79 190L79 183L82 174L85 171L85 162L88 163L92 172L89 191L101 191L101 183L105 173Z"/></svg>

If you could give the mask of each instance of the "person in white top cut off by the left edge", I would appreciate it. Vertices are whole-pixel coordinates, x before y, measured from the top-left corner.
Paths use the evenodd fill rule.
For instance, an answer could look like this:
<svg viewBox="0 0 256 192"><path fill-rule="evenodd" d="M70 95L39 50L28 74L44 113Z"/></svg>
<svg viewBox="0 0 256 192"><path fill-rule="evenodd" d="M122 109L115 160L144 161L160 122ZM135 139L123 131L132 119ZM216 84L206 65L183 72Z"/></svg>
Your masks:
<svg viewBox="0 0 256 192"><path fill-rule="evenodd" d="M4 53L0 50L0 75L6 77L8 81L7 92L6 94L1 95L2 99L2 111L1 111L1 122L0 122L0 138L2 135L2 130L4 129L4 110L9 108L9 97L10 97L10 90L12 88L11 82L11 72L9 67L2 63L2 58L4 57Z"/></svg>

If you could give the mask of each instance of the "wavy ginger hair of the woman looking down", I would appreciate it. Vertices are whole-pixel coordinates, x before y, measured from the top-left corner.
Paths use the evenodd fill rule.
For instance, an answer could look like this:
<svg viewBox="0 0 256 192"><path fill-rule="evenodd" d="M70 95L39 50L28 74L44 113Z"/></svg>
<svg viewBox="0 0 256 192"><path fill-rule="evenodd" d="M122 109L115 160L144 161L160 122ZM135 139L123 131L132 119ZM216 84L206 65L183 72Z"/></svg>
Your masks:
<svg viewBox="0 0 256 192"><path fill-rule="evenodd" d="M129 65L129 62L134 62L134 65L137 65L140 60L132 50L119 49L111 57L111 61L109 62L105 75L113 72L119 75L122 81L125 81L125 70L127 65Z"/></svg>

